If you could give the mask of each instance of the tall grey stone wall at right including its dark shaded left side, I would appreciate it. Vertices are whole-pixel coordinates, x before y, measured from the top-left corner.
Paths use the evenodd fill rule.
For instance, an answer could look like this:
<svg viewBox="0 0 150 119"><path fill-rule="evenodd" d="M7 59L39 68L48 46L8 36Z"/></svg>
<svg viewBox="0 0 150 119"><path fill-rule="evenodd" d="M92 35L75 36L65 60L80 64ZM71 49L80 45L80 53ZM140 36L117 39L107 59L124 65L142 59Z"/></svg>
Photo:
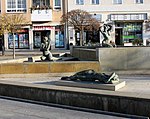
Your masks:
<svg viewBox="0 0 150 119"><path fill-rule="evenodd" d="M71 55L81 60L97 60L101 71L149 70L150 47L86 49L72 47Z"/></svg>

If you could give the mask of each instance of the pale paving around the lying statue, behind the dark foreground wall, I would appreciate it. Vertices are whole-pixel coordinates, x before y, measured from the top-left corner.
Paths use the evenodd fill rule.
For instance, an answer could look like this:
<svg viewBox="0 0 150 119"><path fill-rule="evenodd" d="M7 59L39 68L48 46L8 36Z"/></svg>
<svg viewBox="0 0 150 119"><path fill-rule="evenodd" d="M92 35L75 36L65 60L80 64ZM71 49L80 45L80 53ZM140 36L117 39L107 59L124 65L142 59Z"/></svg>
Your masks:
<svg viewBox="0 0 150 119"><path fill-rule="evenodd" d="M60 80L62 76L74 73L45 73L45 74L1 74L0 80L17 81L25 83L42 83ZM118 92L150 94L150 75L119 75L120 80L126 81L126 86Z"/></svg>

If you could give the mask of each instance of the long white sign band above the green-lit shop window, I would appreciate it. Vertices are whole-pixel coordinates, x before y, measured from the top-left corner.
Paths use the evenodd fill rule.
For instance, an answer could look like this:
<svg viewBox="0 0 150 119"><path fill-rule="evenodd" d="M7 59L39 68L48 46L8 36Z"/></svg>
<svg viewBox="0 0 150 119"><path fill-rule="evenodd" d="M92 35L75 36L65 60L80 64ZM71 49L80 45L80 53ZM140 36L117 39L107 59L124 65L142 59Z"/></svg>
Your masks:
<svg viewBox="0 0 150 119"><path fill-rule="evenodd" d="M110 20L117 21L117 20L146 20L147 14L141 13L141 14L111 14Z"/></svg>

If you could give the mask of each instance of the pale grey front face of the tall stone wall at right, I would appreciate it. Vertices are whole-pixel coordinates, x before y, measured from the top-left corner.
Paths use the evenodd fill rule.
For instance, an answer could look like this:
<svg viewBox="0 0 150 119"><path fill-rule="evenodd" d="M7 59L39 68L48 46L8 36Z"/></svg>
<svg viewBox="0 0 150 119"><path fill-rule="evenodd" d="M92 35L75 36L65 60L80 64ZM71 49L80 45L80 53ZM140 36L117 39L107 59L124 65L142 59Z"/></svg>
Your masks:
<svg viewBox="0 0 150 119"><path fill-rule="evenodd" d="M150 47L99 48L102 70L149 70Z"/></svg>

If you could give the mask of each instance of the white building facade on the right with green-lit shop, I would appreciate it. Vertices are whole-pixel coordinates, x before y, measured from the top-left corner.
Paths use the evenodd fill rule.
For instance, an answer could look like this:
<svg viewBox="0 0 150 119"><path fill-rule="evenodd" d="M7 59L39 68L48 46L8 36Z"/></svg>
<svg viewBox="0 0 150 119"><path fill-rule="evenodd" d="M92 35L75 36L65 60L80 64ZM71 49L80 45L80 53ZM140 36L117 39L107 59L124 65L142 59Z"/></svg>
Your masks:
<svg viewBox="0 0 150 119"><path fill-rule="evenodd" d="M148 45L150 32L145 24L150 16L149 5L149 0L67 0L67 11L85 10L102 23L111 24L111 38L118 46L132 46L135 39ZM75 44L75 31L72 28L68 31L69 42ZM101 34L99 39L102 42Z"/></svg>

